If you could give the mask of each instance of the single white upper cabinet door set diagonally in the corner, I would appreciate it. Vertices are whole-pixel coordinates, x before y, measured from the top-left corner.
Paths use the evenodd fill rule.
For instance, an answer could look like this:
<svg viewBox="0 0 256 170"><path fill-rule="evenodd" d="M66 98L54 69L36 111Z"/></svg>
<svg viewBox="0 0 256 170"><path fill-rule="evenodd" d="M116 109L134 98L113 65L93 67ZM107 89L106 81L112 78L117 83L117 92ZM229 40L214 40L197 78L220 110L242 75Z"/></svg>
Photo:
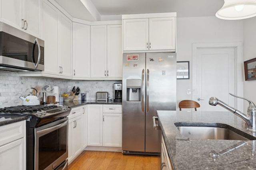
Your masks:
<svg viewBox="0 0 256 170"><path fill-rule="evenodd" d="M73 23L73 77L90 78L90 26Z"/></svg>

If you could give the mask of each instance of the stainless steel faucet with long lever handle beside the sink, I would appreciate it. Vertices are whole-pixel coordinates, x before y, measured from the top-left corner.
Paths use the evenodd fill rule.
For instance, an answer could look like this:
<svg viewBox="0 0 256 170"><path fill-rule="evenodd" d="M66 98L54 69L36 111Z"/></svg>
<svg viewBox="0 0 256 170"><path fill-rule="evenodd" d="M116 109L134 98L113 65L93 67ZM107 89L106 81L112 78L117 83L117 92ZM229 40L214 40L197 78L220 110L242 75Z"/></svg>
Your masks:
<svg viewBox="0 0 256 170"><path fill-rule="evenodd" d="M220 105L220 106L224 107L228 111L230 111L230 112L234 113L235 115L239 116L240 118L242 118L247 124L247 130L256 131L256 106L254 105L254 103L248 99L243 98L243 97L239 97L239 96L233 95L231 93L229 93L229 94L234 97L244 99L249 102L249 106L247 108L247 115L245 115L241 111L238 111L237 109L229 106L228 104L224 103L223 101L220 101L216 97L210 97L209 104L212 106Z"/></svg>

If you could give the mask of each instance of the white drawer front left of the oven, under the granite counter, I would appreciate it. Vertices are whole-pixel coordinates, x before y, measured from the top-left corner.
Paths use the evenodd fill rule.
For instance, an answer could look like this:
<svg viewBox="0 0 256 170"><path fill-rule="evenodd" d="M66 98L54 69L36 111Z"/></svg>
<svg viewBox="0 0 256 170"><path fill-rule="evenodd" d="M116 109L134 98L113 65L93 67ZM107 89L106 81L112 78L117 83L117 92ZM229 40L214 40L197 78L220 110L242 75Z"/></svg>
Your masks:
<svg viewBox="0 0 256 170"><path fill-rule="evenodd" d="M25 136L26 121L20 121L0 127L0 146L23 138Z"/></svg>

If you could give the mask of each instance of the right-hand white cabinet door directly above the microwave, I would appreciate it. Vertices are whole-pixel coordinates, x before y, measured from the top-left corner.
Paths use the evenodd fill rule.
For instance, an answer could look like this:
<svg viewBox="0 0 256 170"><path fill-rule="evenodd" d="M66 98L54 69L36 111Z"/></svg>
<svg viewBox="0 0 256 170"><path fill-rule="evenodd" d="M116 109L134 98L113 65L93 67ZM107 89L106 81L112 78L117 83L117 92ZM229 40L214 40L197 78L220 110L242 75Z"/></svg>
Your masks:
<svg viewBox="0 0 256 170"><path fill-rule="evenodd" d="M41 0L25 0L24 20L26 20L26 31L36 37L40 37L39 22L40 22L40 6Z"/></svg>

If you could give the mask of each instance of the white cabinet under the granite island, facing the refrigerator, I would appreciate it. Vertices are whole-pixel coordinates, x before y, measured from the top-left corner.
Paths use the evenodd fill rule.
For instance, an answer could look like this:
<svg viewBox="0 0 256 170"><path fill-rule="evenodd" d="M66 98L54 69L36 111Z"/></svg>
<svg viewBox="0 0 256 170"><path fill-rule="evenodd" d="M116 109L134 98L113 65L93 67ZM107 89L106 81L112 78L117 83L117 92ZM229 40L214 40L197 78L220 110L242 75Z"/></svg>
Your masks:
<svg viewBox="0 0 256 170"><path fill-rule="evenodd" d="M172 170L163 136L161 136L161 170Z"/></svg>

